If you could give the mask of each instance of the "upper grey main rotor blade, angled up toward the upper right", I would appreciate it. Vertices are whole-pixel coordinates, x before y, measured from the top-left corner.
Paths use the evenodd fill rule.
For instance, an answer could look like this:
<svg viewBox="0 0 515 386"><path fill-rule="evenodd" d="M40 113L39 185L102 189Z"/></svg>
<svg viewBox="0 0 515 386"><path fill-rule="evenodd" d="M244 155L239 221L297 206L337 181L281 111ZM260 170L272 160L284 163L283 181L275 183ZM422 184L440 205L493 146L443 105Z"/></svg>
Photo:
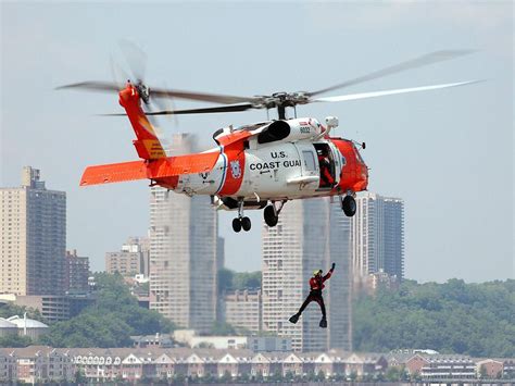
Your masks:
<svg viewBox="0 0 515 386"><path fill-rule="evenodd" d="M372 80L372 79L377 79L377 78L380 78L380 77L384 77L384 76L387 76L387 75L397 74L397 73L400 73L400 72L403 72L403 71L406 71L406 70L419 69L419 67L424 67L426 65L430 65L430 64L434 64L434 63L443 62L445 60L463 57L463 55L469 54L472 52L475 52L475 51L474 50L435 51L435 52L427 53L425 55L422 55L422 57L418 57L418 58L415 58L415 59L412 59L412 60L409 60L409 61L405 61L405 62L401 62L399 64L394 64L394 65L378 70L378 71L375 71L370 74L363 75L363 76L360 76L360 77L340 83L340 84L335 85L335 86L330 86L330 87L323 88L323 89L314 91L314 92L306 92L306 94L310 97L314 97L314 96L317 96L319 94L324 94L324 92L332 91L332 90L336 90L336 89L339 89L339 88L344 88L344 87L357 85L360 83L368 82L368 80Z"/></svg>

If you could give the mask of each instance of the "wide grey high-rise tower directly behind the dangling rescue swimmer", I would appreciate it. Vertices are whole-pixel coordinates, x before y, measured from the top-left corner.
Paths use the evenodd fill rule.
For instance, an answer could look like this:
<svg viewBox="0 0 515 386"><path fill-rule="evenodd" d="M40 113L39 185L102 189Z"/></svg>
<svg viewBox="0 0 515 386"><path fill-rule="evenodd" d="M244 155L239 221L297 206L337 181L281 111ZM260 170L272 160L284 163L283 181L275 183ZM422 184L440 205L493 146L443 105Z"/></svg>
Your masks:
<svg viewBox="0 0 515 386"><path fill-rule="evenodd" d="M275 227L263 229L263 329L291 338L296 351L351 349L351 256L349 220L329 199L288 202ZM294 314L310 292L313 271L336 263L326 283L328 328L318 326L313 302L297 324Z"/></svg>

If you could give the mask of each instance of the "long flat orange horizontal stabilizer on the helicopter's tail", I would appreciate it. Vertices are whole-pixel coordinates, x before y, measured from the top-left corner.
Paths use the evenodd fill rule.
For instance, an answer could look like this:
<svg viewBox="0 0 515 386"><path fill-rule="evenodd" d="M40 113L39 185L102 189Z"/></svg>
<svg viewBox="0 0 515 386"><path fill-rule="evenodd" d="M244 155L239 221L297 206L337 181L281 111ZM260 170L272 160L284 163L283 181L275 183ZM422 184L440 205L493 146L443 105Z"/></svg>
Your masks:
<svg viewBox="0 0 515 386"><path fill-rule="evenodd" d="M80 186L121 183L136 179L159 179L210 172L218 159L216 151L168 157L151 162L133 161L106 165L88 166L84 171Z"/></svg>

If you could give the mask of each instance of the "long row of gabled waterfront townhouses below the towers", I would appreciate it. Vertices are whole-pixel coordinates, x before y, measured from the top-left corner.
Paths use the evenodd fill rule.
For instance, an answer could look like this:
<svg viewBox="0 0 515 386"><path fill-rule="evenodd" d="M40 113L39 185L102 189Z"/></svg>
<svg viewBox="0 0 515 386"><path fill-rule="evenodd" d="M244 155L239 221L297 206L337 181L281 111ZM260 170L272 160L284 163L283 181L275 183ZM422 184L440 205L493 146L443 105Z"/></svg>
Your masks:
<svg viewBox="0 0 515 386"><path fill-rule="evenodd" d="M45 346L0 348L0 382L20 379L72 381L80 373L88 381L103 382L174 376L222 377L241 375L263 377L273 374L305 375L324 373L356 375L381 373L388 366L381 354L330 352L253 352L247 349L189 349L158 347L75 348Z"/></svg>

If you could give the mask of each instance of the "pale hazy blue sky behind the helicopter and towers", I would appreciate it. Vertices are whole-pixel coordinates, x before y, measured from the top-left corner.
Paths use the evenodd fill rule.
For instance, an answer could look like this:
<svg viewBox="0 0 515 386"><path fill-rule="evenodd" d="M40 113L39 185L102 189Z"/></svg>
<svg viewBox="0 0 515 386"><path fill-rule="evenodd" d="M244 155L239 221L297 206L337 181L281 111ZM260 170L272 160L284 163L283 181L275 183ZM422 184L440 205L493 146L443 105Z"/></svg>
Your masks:
<svg viewBox="0 0 515 386"><path fill-rule="evenodd" d="M67 248L103 269L104 253L149 226L145 182L79 188L87 165L136 160L116 95L55 91L111 80L122 39L147 53L152 86L228 95L316 90L442 49L476 53L331 95L468 79L438 91L314 103L336 134L367 144L369 190L405 201L405 275L420 282L514 277L513 3L486 2L5 2L1 10L0 186L22 166L67 194ZM121 62L121 65L125 64ZM175 101L176 108L206 103ZM263 111L180 116L164 134L262 121ZM226 264L261 269L261 212L234 234L219 215Z"/></svg>

